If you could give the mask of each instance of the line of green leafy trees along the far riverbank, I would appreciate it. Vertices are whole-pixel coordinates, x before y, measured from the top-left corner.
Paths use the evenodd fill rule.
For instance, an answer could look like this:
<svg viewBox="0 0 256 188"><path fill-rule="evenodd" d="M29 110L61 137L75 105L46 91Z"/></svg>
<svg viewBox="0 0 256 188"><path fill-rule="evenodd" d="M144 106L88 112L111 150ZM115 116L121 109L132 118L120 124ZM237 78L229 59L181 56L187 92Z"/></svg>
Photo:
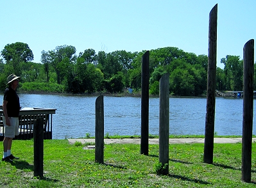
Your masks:
<svg viewBox="0 0 256 188"><path fill-rule="evenodd" d="M52 91L67 93L121 93L124 88L141 90L142 52L114 51L96 53L85 49L76 54L72 45L61 45L42 51L40 62L33 62L33 52L26 43L7 44L1 51L0 88L6 77L21 76L21 91ZM216 89L243 90L243 60L239 56L221 59L217 67ZM201 96L207 90L208 57L184 52L177 47L149 51L149 93L158 95L159 80L169 73L170 94ZM256 84L255 84L256 86Z"/></svg>

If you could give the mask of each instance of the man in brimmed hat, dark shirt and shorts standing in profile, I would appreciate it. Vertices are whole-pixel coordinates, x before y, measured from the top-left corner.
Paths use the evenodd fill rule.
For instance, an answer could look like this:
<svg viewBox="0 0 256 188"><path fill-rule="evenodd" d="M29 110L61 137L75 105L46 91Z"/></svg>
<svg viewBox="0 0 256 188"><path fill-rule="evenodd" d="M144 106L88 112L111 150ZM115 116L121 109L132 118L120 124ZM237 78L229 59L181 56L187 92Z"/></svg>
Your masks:
<svg viewBox="0 0 256 188"><path fill-rule="evenodd" d="M14 157L11 153L12 139L15 135L19 135L19 97L16 93L16 88L19 85L19 78L15 74L11 74L7 78L8 88L4 90L3 100L3 123L4 123L4 155L2 161L10 162Z"/></svg>

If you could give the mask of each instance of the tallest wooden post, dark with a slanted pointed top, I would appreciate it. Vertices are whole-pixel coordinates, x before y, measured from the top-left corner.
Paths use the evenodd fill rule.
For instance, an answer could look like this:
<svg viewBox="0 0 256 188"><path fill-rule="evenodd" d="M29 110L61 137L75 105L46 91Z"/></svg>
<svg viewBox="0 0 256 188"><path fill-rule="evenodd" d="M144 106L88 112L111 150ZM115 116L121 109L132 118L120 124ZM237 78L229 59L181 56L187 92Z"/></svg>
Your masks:
<svg viewBox="0 0 256 188"><path fill-rule="evenodd" d="M217 12L218 4L209 15L209 49L207 77L207 113L205 118L205 145L203 162L212 164L214 151L214 118L216 93L216 57L217 57Z"/></svg>

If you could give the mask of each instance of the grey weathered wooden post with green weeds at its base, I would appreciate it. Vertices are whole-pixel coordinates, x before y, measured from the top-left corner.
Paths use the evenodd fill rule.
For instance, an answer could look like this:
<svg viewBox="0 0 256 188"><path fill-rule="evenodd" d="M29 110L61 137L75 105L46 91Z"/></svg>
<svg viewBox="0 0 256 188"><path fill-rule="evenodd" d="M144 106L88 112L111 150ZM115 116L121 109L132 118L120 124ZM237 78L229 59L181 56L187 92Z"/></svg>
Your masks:
<svg viewBox="0 0 256 188"><path fill-rule="evenodd" d="M159 162L163 175L169 174L169 74L164 74L159 84Z"/></svg>

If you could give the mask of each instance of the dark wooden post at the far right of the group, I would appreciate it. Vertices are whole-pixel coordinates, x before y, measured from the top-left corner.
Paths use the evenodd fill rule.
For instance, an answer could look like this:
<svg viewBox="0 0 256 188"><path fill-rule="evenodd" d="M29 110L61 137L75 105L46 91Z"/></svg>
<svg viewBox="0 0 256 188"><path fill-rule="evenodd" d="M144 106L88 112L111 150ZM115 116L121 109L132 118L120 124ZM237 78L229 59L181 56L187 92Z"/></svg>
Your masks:
<svg viewBox="0 0 256 188"><path fill-rule="evenodd" d="M244 45L244 104L242 137L242 180L251 182L252 173L252 127L253 127L253 61L254 40Z"/></svg>

